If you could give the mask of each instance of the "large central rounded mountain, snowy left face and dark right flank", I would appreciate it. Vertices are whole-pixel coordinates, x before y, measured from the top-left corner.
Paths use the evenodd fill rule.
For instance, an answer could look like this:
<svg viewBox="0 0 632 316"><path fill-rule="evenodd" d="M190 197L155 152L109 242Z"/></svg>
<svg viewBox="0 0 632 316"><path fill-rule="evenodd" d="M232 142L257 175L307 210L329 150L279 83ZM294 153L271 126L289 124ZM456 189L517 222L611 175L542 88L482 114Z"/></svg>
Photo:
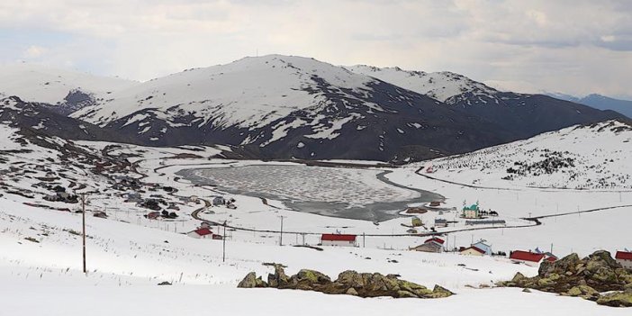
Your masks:
<svg viewBox="0 0 632 316"><path fill-rule="evenodd" d="M280 55L154 79L72 116L145 144L224 143L259 158L430 158L504 140L426 95Z"/></svg>

